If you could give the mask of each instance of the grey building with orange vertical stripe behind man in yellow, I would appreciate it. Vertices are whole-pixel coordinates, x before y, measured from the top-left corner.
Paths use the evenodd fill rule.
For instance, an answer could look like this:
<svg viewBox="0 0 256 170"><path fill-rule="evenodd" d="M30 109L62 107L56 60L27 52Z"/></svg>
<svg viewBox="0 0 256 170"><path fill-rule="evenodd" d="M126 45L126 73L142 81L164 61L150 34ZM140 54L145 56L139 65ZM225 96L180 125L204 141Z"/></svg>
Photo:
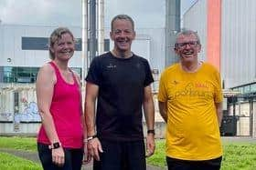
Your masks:
<svg viewBox="0 0 256 170"><path fill-rule="evenodd" d="M200 59L219 68L227 107L223 134L256 136L256 1L197 0L183 25L201 37Z"/></svg>

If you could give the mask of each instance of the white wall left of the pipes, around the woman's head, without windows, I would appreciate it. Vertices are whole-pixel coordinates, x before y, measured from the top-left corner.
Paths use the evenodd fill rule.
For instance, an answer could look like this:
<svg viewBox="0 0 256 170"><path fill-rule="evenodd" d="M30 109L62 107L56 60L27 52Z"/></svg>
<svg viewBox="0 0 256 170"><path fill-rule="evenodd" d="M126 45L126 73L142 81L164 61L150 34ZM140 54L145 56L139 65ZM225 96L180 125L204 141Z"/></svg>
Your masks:
<svg viewBox="0 0 256 170"><path fill-rule="evenodd" d="M57 26L33 25L0 25L2 43L0 47L0 66L36 66L39 67L49 61L47 50L22 50L22 36L49 37ZM69 27L75 38L80 38L80 27ZM7 62L11 58L11 62ZM76 51L69 66L81 67L81 52Z"/></svg>

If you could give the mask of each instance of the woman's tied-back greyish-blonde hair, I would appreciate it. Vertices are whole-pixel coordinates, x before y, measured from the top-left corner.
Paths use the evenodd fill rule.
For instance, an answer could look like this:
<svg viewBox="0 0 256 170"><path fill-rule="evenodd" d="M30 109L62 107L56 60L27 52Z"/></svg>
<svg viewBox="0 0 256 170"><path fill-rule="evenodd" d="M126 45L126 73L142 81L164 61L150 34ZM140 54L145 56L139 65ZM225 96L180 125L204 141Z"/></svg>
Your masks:
<svg viewBox="0 0 256 170"><path fill-rule="evenodd" d="M50 35L49 37L49 42L48 42L48 52L49 52L49 58L54 60L55 56L54 54L50 51L50 48L53 47L53 45L59 41L59 39L61 38L61 35L64 35L68 33L69 35L72 36L73 41L75 42L75 38L74 35L71 33L71 31L69 30L69 28L67 27L59 27L56 28Z"/></svg>

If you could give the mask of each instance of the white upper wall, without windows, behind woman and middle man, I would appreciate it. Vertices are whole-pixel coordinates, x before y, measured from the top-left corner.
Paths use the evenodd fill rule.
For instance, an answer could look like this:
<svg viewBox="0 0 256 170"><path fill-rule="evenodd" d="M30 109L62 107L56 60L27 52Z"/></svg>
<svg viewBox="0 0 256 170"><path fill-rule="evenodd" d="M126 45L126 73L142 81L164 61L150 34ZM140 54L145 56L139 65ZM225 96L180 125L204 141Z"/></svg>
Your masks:
<svg viewBox="0 0 256 170"><path fill-rule="evenodd" d="M22 50L21 39L28 37L49 37L57 26L0 25L0 66L40 67L49 61L48 50ZM80 27L69 27L75 38L81 38ZM161 72L165 67L165 28L137 28L132 50L148 59L153 69ZM105 39L110 38L110 28L105 29ZM112 50L112 40L110 49ZM11 58L11 62L7 61ZM69 66L82 67L81 52L76 51Z"/></svg>

